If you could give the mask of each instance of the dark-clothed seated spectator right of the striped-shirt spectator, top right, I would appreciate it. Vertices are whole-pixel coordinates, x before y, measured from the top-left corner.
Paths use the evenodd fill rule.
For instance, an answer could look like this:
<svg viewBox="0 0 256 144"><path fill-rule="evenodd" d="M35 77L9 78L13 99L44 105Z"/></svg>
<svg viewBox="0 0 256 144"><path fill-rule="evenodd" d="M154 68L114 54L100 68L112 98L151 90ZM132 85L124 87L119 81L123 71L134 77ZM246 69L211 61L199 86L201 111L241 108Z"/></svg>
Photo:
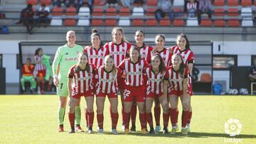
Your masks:
<svg viewBox="0 0 256 144"><path fill-rule="evenodd" d="M200 0L198 7L198 24L201 23L201 14L207 13L208 17L211 18L211 0Z"/></svg>

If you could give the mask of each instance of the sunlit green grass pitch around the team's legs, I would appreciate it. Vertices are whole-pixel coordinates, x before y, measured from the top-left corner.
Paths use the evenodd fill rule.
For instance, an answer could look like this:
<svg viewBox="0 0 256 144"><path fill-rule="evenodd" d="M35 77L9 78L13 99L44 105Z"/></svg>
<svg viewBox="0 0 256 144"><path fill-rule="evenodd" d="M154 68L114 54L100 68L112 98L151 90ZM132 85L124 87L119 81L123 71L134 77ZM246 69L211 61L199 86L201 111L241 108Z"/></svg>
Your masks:
<svg viewBox="0 0 256 144"><path fill-rule="evenodd" d="M109 133L109 101L106 99L104 134L69 134L68 111L64 124L66 132L57 132L58 96L4 95L0 96L0 143L225 143L227 138L231 138L224 131L225 121L229 118L236 118L242 123L242 132L235 138L242 138L242 143L256 143L255 104L256 96L193 96L192 133L186 136L180 133L142 135L139 131L124 135L119 111L117 131L120 134L112 135ZM82 128L85 128L84 107L85 100L81 99ZM179 109L181 111L181 107ZM138 117L137 130L140 129ZM181 112L178 119L181 126ZM95 114L94 131L96 127Z"/></svg>

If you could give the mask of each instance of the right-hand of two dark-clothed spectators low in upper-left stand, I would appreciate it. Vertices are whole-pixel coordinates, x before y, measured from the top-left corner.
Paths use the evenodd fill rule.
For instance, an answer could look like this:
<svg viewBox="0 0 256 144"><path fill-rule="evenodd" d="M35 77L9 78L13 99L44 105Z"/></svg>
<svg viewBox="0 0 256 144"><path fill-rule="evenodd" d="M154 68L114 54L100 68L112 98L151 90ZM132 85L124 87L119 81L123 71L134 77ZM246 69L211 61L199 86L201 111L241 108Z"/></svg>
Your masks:
<svg viewBox="0 0 256 144"><path fill-rule="evenodd" d="M49 18L48 15L50 13L50 9L46 7L46 4L41 4L41 7L37 11L37 16L38 16L38 26L44 26L46 27L49 23Z"/></svg>

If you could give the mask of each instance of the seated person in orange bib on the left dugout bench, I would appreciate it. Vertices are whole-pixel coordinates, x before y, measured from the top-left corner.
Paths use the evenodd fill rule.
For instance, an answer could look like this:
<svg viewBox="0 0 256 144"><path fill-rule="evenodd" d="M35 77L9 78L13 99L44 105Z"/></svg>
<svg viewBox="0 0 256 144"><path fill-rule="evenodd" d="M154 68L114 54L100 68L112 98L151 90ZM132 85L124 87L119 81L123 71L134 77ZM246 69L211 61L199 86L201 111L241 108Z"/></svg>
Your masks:
<svg viewBox="0 0 256 144"><path fill-rule="evenodd" d="M26 63L23 65L23 68L22 68L21 88L23 92L26 91L25 82L30 83L31 93L36 89L36 81L33 78L33 70L34 70L34 66L31 64L31 58L28 57L26 59Z"/></svg>

